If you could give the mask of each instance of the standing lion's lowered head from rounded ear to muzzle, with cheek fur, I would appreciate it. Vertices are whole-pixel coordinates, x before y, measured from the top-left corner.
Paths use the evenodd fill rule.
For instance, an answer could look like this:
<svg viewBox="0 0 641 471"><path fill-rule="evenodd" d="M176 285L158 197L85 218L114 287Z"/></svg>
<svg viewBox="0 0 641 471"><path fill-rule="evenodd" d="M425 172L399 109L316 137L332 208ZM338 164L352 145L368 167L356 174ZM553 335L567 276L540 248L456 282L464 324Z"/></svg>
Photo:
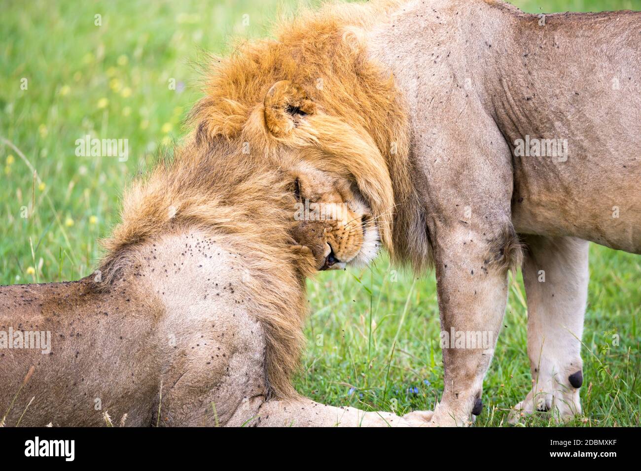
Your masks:
<svg viewBox="0 0 641 471"><path fill-rule="evenodd" d="M362 124L347 124L319 108L303 88L281 80L251 112L242 139L291 170L301 210L296 236L319 269L367 264L379 239L392 248L392 181Z"/></svg>

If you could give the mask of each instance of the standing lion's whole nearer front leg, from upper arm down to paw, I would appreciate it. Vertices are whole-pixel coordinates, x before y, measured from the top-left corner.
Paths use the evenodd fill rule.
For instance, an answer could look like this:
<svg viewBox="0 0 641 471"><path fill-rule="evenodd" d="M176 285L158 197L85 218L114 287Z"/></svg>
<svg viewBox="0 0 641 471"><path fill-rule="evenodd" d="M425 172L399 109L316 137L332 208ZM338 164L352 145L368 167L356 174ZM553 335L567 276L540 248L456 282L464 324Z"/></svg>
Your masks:
<svg viewBox="0 0 641 471"><path fill-rule="evenodd" d="M444 391L429 424L465 426L481 393L520 263L512 226L512 154L494 120L467 94L417 108L417 167L437 275ZM438 104L436 103L438 101ZM455 124L454 124L455 123Z"/></svg>

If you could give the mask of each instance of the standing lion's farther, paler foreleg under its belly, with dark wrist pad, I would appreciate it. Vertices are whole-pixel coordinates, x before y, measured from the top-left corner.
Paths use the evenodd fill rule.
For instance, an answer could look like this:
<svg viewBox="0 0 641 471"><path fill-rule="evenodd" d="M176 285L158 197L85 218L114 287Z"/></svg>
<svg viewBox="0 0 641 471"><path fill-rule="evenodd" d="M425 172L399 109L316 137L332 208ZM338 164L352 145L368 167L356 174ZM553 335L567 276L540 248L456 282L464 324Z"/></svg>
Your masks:
<svg viewBox="0 0 641 471"><path fill-rule="evenodd" d="M528 297L530 391L510 422L535 411L557 420L581 413L581 335L588 287L588 242L528 236L523 281Z"/></svg>

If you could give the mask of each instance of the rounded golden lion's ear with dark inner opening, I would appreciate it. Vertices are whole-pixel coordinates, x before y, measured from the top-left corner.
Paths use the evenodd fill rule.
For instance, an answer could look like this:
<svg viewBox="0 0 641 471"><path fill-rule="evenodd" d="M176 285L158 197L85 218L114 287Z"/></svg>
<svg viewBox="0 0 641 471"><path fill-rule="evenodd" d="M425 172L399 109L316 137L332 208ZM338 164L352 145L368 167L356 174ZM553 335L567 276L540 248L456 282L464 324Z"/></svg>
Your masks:
<svg viewBox="0 0 641 471"><path fill-rule="evenodd" d="M316 112L316 104L303 88L289 80L274 83L265 95L264 104L265 125L276 137L287 136L297 122Z"/></svg>

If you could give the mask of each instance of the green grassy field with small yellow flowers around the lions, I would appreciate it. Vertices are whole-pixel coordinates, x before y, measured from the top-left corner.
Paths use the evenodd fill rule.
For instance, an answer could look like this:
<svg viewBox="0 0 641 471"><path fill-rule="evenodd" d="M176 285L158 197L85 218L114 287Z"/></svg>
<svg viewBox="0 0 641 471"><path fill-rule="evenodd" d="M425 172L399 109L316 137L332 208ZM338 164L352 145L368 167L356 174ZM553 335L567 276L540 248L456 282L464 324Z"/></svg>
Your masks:
<svg viewBox="0 0 641 471"><path fill-rule="evenodd" d="M224 52L229 35L267 34L294 3L1 0L0 284L90 274L123 186L159 147L179 142L200 96L203 51ZM640 0L513 3L534 13L641 10ZM87 134L127 138L129 159L77 157ZM583 416L571 425L638 426L641 258L597 246L590 256ZM433 275L413 279L381 258L371 270L322 273L309 288L301 393L339 406L433 409L443 387ZM519 274L477 425L504 425L528 389L524 296ZM544 413L525 424L554 425Z"/></svg>

